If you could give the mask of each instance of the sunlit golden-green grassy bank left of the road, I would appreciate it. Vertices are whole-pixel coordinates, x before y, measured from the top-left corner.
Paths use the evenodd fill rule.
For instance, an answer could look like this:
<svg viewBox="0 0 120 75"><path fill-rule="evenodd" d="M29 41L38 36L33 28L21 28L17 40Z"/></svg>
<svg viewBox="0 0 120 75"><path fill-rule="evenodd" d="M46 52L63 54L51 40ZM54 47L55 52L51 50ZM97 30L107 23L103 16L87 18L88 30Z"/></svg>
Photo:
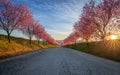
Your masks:
<svg viewBox="0 0 120 75"><path fill-rule="evenodd" d="M40 42L38 45L38 42L35 40L33 40L32 44L30 45L29 40L17 37L11 37L11 43L8 43L7 36L0 35L0 59L50 47L55 47L55 45L46 45L42 42Z"/></svg>

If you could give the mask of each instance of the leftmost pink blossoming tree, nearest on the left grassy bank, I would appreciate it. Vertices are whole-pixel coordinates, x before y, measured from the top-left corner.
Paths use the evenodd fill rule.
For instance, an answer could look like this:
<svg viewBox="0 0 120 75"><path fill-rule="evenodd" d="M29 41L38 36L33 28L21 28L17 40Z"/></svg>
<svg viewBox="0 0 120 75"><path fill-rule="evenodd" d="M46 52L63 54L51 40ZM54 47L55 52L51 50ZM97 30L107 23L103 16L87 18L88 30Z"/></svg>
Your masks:
<svg viewBox="0 0 120 75"><path fill-rule="evenodd" d="M23 4L14 4L10 0L0 1L0 29L6 31L10 43L11 33L22 26L24 20L32 16L30 10Z"/></svg>

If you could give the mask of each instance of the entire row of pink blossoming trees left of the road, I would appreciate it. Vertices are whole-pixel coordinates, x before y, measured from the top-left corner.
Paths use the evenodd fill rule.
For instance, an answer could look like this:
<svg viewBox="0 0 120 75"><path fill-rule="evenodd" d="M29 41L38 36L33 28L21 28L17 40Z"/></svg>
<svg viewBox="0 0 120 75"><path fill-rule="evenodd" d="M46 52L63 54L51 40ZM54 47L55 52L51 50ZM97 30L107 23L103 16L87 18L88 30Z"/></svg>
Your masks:
<svg viewBox="0 0 120 75"><path fill-rule="evenodd" d="M50 43L58 44L42 25L33 19L33 14L24 4L14 4L10 0L0 0L0 29L7 33L10 43L10 35L14 30L22 31L31 44L33 36L47 40Z"/></svg>

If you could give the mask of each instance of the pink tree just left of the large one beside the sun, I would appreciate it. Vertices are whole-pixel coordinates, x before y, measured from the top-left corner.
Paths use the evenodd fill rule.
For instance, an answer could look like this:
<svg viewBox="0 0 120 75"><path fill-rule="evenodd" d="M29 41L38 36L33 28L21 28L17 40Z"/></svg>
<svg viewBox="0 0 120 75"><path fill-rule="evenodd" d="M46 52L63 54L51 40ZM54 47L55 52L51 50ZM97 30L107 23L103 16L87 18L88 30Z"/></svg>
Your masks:
<svg viewBox="0 0 120 75"><path fill-rule="evenodd" d="M86 40L87 45L90 37L96 31L96 26L94 26L94 23L91 21L91 19L93 19L92 16L94 16L93 10L94 2L90 1L89 4L86 4L83 7L83 13L81 15L81 18L74 25L74 31L78 32L81 37Z"/></svg>

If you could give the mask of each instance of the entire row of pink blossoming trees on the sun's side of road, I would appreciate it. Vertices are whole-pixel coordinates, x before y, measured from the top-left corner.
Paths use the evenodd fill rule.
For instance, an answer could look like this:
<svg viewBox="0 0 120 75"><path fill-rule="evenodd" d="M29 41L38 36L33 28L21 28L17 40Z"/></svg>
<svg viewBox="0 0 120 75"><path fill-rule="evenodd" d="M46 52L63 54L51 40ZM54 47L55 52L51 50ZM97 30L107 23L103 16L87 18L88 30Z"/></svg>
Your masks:
<svg viewBox="0 0 120 75"><path fill-rule="evenodd" d="M91 38L105 40L106 36L120 32L119 19L119 0L102 0L99 3L90 0L83 7L83 12L74 25L73 33L77 32L86 42ZM66 40L71 41L74 36L69 38L70 36L63 43Z"/></svg>

